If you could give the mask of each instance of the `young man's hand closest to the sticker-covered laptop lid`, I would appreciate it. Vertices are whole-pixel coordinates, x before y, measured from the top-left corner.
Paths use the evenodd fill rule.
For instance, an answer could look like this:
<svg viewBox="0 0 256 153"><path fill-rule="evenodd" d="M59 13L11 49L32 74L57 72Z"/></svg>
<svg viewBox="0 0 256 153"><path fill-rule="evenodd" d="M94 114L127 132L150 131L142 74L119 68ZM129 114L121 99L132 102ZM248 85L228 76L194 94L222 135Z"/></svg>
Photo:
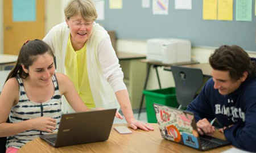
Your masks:
<svg viewBox="0 0 256 153"><path fill-rule="evenodd" d="M197 123L196 123L196 126L197 126L197 130L198 132L201 134L201 135L210 135L212 136L214 131L215 131L215 128L214 126L210 125L210 122L204 118L202 120L199 120Z"/></svg>

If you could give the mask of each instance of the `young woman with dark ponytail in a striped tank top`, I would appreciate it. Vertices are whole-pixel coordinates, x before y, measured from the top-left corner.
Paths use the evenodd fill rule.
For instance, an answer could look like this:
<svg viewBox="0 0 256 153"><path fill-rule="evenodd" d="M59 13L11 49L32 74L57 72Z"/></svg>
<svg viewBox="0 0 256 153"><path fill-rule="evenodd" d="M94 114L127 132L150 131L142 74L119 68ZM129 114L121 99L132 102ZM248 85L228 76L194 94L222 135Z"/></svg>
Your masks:
<svg viewBox="0 0 256 153"><path fill-rule="evenodd" d="M55 73L51 48L41 40L26 42L0 96L0 137L7 137L6 152L57 131L62 95L76 112L89 110L71 80Z"/></svg>

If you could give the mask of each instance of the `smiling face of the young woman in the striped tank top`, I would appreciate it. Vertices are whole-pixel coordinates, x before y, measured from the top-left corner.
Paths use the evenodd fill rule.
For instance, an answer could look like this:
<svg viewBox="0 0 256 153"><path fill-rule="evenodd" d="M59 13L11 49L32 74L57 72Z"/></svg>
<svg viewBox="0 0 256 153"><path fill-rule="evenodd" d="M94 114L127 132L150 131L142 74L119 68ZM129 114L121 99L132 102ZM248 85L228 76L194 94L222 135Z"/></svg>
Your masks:
<svg viewBox="0 0 256 153"><path fill-rule="evenodd" d="M39 86L49 86L52 82L52 75L55 73L52 55L46 52L32 58L36 59L28 69L22 65L24 72L28 73L27 79Z"/></svg>

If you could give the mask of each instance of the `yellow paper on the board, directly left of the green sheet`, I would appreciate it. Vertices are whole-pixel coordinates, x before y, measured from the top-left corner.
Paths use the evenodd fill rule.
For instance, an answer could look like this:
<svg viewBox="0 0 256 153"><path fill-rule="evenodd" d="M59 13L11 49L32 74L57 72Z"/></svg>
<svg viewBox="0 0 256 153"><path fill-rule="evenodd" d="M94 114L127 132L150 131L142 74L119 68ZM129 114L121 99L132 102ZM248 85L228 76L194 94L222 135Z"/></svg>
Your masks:
<svg viewBox="0 0 256 153"><path fill-rule="evenodd" d="M218 20L233 20L233 0L218 0Z"/></svg>

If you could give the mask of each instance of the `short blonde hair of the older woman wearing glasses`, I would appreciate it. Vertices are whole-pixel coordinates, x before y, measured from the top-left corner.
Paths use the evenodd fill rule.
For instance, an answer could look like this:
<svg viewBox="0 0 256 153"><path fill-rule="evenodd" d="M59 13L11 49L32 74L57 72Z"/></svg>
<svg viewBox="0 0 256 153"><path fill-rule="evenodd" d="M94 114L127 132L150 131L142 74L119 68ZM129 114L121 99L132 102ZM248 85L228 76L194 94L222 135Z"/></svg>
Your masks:
<svg viewBox="0 0 256 153"><path fill-rule="evenodd" d="M80 13L86 21L97 19L96 8L90 0L71 0L64 9L65 17L69 20L73 15Z"/></svg>

